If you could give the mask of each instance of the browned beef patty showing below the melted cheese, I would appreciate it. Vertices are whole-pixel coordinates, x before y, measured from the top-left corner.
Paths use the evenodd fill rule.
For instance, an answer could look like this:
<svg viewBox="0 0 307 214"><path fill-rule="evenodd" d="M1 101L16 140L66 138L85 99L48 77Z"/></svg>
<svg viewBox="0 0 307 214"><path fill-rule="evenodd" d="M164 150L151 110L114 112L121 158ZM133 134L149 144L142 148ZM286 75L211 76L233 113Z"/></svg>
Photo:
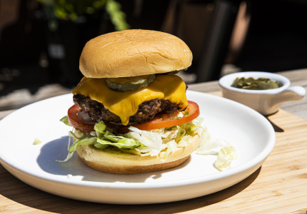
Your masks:
<svg viewBox="0 0 307 214"><path fill-rule="evenodd" d="M105 108L102 103L92 100L89 96L82 94L74 94L74 103L84 111L89 113L89 116L93 121L98 123L104 121L104 123L121 123L121 118L114 113L111 113L109 109ZM171 101L153 99L151 101L145 101L139 106L139 110L133 116L129 117L129 124L144 123L151 121L156 113L175 113L178 110L176 103Z"/></svg>

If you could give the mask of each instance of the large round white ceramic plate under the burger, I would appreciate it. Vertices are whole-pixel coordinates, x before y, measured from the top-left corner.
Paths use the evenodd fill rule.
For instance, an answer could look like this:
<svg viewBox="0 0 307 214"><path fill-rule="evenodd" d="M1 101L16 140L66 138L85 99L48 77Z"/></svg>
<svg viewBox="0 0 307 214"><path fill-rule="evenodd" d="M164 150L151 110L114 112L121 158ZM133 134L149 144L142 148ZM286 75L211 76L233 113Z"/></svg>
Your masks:
<svg viewBox="0 0 307 214"><path fill-rule="evenodd" d="M218 171L216 156L193 153L182 165L153 173L113 175L87 167L75 154L66 162L68 131L59 121L73 104L71 95L57 96L19 109L0 121L0 161L29 185L66 198L98 203L165 203L215 193L257 170L271 153L275 133L271 124L234 101L206 93L187 92L201 109L211 138L236 147L232 168ZM34 145L34 139L42 143ZM1 184L0 184L1 185Z"/></svg>

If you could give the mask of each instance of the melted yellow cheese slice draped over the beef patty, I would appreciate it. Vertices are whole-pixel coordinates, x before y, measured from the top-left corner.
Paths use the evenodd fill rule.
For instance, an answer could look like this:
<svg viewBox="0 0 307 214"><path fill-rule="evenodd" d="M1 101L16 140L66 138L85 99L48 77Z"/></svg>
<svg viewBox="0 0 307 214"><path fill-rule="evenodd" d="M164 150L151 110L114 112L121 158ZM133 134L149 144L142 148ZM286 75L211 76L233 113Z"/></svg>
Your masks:
<svg viewBox="0 0 307 214"><path fill-rule="evenodd" d="M111 113L121 118L121 123L127 125L129 117L133 116L144 101L154 98L164 99L176 103L180 110L188 106L186 99L186 83L174 74L157 75L146 88L137 91L114 91L106 86L104 78L82 78L74 88L74 94L81 93L92 100L104 104Z"/></svg>

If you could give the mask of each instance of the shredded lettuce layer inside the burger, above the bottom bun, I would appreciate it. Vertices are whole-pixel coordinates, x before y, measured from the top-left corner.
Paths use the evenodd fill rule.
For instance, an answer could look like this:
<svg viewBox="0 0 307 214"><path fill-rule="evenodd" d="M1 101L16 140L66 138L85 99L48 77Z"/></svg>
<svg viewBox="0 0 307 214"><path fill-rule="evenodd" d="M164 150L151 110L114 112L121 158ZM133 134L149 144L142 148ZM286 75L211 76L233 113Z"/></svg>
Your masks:
<svg viewBox="0 0 307 214"><path fill-rule="evenodd" d="M182 113L178 116L183 116ZM64 117L66 118L66 117ZM67 119L67 118L66 118ZM66 121L61 119L61 121ZM141 153L141 156L158 156L161 151L166 151L163 161L177 147L187 146L189 140L195 135L198 126L193 122L188 122L180 126L159 128L151 131L143 131L130 126L129 133L124 135L114 134L103 121L96 123L91 133L84 133L74 129L69 132L69 137L74 138L75 143L70 146L69 154L64 161L68 161L81 145L92 145L99 149L114 146L119 149L128 149ZM174 140L175 139L175 140Z"/></svg>

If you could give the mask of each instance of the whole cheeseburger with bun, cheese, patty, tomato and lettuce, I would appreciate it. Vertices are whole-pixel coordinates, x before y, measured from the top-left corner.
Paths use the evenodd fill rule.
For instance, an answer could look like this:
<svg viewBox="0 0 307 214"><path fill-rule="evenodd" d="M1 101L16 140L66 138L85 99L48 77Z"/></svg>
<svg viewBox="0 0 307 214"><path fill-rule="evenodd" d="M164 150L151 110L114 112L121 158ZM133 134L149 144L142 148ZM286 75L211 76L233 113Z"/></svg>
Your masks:
<svg viewBox="0 0 307 214"><path fill-rule="evenodd" d="M173 168L198 148L197 103L176 75L192 54L178 37L126 30L86 43L73 90L74 106L61 119L73 126L68 161L76 151L91 168L134 174Z"/></svg>

